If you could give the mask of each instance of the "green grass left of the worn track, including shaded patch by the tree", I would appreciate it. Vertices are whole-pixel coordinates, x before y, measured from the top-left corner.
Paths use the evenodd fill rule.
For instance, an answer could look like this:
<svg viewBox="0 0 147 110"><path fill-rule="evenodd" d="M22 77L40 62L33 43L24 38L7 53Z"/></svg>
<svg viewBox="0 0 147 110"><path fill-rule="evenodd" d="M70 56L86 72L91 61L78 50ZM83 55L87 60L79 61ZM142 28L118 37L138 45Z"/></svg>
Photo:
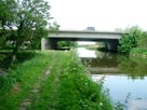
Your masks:
<svg viewBox="0 0 147 110"><path fill-rule="evenodd" d="M16 110L50 64L51 54L19 53L19 61L0 75L0 110Z"/></svg>

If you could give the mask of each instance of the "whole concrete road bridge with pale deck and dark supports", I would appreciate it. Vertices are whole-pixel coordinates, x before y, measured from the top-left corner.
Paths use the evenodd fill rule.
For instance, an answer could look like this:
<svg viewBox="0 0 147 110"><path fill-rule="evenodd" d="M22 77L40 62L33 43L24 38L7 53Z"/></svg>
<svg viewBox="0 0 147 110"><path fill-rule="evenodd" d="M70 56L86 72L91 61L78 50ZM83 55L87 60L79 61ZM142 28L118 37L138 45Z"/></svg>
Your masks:
<svg viewBox="0 0 147 110"><path fill-rule="evenodd" d="M57 42L61 40L65 40L105 42L108 50L117 51L118 40L121 39L122 35L124 35L124 32L94 30L59 30L58 32L50 32L48 39L43 38L41 41L41 49L57 49Z"/></svg>

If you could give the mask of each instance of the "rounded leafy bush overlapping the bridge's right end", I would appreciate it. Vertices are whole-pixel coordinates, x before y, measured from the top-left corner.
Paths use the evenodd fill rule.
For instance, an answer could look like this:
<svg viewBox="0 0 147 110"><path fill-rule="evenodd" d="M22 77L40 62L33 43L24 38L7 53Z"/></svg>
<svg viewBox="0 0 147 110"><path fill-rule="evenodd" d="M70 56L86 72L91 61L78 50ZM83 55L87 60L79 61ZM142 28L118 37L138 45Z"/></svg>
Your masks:
<svg viewBox="0 0 147 110"><path fill-rule="evenodd" d="M142 36L142 29L138 27L131 27L125 30L128 35L119 40L118 52L128 54L133 47L137 46L138 38Z"/></svg>

